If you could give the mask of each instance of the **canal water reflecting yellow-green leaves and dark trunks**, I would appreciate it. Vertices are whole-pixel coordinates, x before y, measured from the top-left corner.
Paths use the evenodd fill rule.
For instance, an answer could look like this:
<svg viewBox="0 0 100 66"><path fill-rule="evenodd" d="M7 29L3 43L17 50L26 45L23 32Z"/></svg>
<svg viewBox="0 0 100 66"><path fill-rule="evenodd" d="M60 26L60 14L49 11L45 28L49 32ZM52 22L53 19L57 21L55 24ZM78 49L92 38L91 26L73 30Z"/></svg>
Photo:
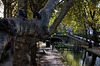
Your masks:
<svg viewBox="0 0 100 66"><path fill-rule="evenodd" d="M78 48L78 47L77 47ZM65 66L91 66L92 64L92 54L86 52L84 49L71 49L68 50L66 48L60 48L58 51L63 56L63 63ZM92 66L100 66L100 58L97 57L95 61L95 65Z"/></svg>

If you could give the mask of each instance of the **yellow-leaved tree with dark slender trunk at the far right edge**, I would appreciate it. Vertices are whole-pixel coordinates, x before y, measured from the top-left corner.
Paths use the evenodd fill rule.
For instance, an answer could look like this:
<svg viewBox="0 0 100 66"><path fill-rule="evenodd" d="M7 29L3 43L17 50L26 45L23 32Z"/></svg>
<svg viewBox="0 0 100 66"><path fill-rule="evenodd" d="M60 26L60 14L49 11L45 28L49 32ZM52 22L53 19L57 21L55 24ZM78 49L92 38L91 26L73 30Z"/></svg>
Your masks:
<svg viewBox="0 0 100 66"><path fill-rule="evenodd" d="M98 46L98 38L97 38L97 30L99 27L99 7L98 6L98 0L97 1L86 1L85 2L85 20L89 27L93 30L93 40L94 40L94 46Z"/></svg>

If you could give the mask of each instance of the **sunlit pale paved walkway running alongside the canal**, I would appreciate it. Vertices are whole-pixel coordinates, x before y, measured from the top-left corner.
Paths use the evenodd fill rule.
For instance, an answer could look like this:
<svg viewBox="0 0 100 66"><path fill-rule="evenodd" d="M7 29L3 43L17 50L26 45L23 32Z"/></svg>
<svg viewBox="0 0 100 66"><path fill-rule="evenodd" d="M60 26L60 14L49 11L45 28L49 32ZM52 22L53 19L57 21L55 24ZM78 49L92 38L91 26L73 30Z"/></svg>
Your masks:
<svg viewBox="0 0 100 66"><path fill-rule="evenodd" d="M64 66L61 62L61 55L57 50L52 50L51 47L45 47L46 44L40 45L38 55L38 66Z"/></svg>

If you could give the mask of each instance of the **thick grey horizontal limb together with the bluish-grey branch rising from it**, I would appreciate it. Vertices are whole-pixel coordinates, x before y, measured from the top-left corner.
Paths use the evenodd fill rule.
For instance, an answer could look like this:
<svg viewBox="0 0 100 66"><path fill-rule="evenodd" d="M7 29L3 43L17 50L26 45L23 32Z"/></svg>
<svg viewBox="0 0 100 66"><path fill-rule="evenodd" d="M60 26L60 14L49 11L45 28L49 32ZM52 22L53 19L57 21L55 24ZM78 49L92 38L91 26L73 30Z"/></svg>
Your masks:
<svg viewBox="0 0 100 66"><path fill-rule="evenodd" d="M48 24L50 20L50 16L55 9L59 0L48 0L45 7L40 11L42 16L41 20L37 18L34 19L25 19L23 18L3 18L0 19L0 33L5 33L2 36L6 36L7 38L0 43L6 41L8 37L16 37L16 36L34 36L37 39L43 39L47 37L49 34ZM3 39L0 36L0 39ZM10 39L9 39L10 40ZM2 43L4 44L4 43Z"/></svg>

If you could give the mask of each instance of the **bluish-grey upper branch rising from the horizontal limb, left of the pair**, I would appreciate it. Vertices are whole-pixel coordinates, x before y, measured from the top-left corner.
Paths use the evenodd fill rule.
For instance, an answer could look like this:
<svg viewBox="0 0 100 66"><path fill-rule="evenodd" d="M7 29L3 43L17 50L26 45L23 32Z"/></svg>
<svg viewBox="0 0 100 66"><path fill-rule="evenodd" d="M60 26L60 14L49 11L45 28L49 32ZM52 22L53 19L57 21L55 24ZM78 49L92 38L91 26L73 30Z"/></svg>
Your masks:
<svg viewBox="0 0 100 66"><path fill-rule="evenodd" d="M40 22L40 25L41 25L40 28L42 28L43 30L42 32L45 32L46 34L49 33L48 32L49 31L49 20L58 3L59 3L59 0L48 0L45 7L39 11L39 13L42 16L42 19Z"/></svg>

